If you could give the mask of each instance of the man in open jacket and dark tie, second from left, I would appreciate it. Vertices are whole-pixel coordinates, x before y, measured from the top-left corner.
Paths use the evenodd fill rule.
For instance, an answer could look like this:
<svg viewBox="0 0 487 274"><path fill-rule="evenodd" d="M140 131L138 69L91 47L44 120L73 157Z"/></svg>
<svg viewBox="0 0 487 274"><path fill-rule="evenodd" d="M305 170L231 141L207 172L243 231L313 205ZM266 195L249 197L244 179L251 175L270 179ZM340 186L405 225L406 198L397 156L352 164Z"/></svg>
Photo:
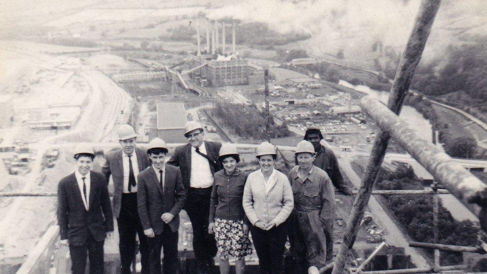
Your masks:
<svg viewBox="0 0 487 274"><path fill-rule="evenodd" d="M108 154L103 166L107 180L113 180L113 214L117 218L122 274L132 273L136 235L139 236L142 274L149 273L147 238L137 211L137 175L150 166L147 153L137 148L137 134L130 125L118 130L121 148Z"/></svg>

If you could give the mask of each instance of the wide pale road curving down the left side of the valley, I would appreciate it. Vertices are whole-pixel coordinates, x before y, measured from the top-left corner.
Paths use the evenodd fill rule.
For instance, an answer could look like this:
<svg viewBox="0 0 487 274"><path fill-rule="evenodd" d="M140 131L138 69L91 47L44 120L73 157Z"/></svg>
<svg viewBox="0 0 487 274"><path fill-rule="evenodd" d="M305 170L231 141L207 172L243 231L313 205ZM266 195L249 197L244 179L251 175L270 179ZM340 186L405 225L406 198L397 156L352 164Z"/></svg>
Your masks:
<svg viewBox="0 0 487 274"><path fill-rule="evenodd" d="M102 142L110 141L117 130L119 122L126 122L131 112L131 98L110 78L98 71L83 71L80 75L91 87L88 105L83 108L82 116L76 126L69 131L47 137L41 142L29 147L35 152L31 162L31 172L26 175L22 192L34 191L42 184L41 161L46 150L51 146L59 146L66 142ZM121 110L124 115L121 115ZM72 148L74 144L70 144ZM52 180L48 180L52 183ZM45 186L55 190L55 186ZM52 200L31 198L10 198L13 200L2 209L3 218L0 220L0 243L8 254L0 257L23 256L38 241L37 234L41 233L53 219L55 203ZM40 217L40 218L39 218ZM12 237L14 236L14 237ZM32 239L32 236L34 238ZM34 240L34 241L33 241Z"/></svg>

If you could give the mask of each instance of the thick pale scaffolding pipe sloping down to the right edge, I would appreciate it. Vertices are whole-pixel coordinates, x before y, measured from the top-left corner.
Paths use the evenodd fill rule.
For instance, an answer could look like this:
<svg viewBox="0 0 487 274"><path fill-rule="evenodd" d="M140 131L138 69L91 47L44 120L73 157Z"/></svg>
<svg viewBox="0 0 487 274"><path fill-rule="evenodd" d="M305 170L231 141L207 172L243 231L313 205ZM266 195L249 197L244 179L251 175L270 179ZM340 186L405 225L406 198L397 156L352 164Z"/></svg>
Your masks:
<svg viewBox="0 0 487 274"><path fill-rule="evenodd" d="M385 107L378 100L365 96L360 100L362 109L370 115L378 126L390 133L391 137L415 158L436 181L448 189L469 210L479 217L482 227L487 226L481 217L481 208L472 201L485 205L487 186L464 167L456 163L442 149L421 138L405 120Z"/></svg>

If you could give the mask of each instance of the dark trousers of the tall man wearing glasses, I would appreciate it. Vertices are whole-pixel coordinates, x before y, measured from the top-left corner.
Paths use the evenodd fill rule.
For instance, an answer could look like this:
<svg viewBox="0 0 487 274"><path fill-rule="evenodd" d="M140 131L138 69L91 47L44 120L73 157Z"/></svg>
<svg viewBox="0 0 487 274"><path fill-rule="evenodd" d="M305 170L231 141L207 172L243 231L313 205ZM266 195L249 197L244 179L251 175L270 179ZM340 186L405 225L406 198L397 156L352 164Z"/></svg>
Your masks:
<svg viewBox="0 0 487 274"><path fill-rule="evenodd" d="M193 226L193 250L199 265L212 266L217 255L215 236L208 233L212 188L190 188L185 210Z"/></svg>

